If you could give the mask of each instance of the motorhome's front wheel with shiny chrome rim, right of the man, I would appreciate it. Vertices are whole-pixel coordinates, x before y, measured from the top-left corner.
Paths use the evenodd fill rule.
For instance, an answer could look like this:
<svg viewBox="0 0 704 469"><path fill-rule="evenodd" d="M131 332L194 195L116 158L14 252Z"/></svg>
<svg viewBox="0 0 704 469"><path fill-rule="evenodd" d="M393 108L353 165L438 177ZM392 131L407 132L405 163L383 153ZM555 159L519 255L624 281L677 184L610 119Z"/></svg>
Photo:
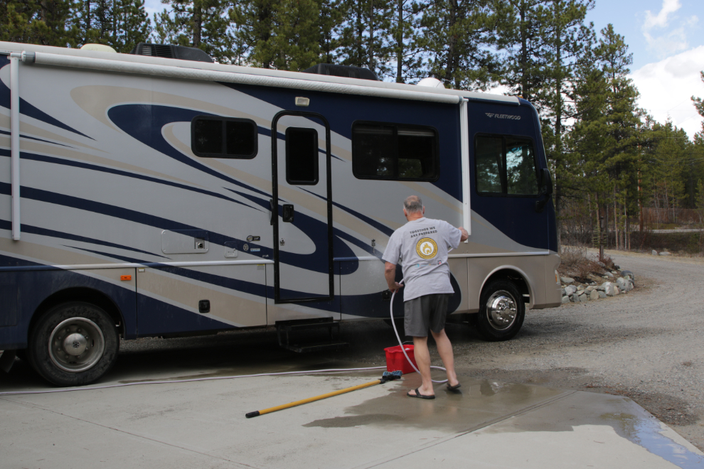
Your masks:
<svg viewBox="0 0 704 469"><path fill-rule="evenodd" d="M484 340L508 340L521 330L526 305L516 285L511 281L495 280L481 291L479 314L472 316L476 316L474 327Z"/></svg>

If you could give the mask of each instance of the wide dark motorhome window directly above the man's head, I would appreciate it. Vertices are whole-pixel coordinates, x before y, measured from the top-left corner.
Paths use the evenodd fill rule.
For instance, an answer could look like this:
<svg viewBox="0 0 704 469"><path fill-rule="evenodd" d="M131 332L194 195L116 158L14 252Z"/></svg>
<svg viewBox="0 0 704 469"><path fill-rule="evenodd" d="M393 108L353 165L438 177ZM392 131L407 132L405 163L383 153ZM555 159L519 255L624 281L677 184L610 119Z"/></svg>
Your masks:
<svg viewBox="0 0 704 469"><path fill-rule="evenodd" d="M435 180L437 132L431 127L355 123L352 167L360 179Z"/></svg>

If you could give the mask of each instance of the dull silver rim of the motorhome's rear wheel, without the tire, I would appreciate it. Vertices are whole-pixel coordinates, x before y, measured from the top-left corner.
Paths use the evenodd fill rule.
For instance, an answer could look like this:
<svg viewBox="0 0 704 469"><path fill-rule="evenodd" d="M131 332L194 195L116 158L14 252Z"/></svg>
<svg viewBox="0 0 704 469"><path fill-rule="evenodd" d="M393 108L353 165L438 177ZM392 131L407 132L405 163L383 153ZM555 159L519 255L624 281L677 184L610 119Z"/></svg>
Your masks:
<svg viewBox="0 0 704 469"><path fill-rule="evenodd" d="M49 357L60 370L79 373L90 369L105 351L105 337L90 319L61 321L49 336Z"/></svg>

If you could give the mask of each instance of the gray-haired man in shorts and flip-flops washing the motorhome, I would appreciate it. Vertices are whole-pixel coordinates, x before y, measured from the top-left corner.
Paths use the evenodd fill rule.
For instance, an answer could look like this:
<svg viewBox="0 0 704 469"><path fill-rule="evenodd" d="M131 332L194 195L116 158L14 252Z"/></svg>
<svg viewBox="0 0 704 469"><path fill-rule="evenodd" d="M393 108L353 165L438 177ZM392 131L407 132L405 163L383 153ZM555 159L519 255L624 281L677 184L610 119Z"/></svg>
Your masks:
<svg viewBox="0 0 704 469"><path fill-rule="evenodd" d="M454 293L449 280L447 254L469 237L464 228L455 228L443 220L425 218L425 207L417 195L403 201L403 215L408 222L393 232L382 259L390 291L403 287L404 327L413 338L415 361L423 379L421 387L408 392L409 397L435 399L430 378L428 329L447 369L447 389L459 388L454 372L452 343L445 334L447 301ZM403 285L395 281L396 264L403 262Z"/></svg>

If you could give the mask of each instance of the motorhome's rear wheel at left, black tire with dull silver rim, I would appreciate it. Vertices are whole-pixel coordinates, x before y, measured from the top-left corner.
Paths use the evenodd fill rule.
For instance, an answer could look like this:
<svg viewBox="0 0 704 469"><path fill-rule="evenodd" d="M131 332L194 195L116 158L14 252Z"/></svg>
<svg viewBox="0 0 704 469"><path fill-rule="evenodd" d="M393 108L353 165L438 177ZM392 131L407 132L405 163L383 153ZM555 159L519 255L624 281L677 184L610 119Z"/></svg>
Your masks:
<svg viewBox="0 0 704 469"><path fill-rule="evenodd" d="M62 303L46 311L31 331L27 355L32 367L57 386L90 384L117 359L114 320L90 303Z"/></svg>

